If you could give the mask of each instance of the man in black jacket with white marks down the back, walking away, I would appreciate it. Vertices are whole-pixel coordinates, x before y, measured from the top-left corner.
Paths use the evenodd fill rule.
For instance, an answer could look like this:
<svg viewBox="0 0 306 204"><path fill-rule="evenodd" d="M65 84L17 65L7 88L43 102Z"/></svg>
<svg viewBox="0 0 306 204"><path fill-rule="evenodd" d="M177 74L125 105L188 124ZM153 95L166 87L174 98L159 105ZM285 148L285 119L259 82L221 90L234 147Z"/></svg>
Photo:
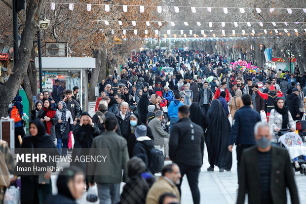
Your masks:
<svg viewBox="0 0 306 204"><path fill-rule="evenodd" d="M204 131L202 127L191 122L189 107L179 107L179 121L172 125L169 140L169 157L181 170L181 193L183 176L186 174L191 189L193 204L200 203L198 177L203 164ZM192 150L192 151L191 151Z"/></svg>

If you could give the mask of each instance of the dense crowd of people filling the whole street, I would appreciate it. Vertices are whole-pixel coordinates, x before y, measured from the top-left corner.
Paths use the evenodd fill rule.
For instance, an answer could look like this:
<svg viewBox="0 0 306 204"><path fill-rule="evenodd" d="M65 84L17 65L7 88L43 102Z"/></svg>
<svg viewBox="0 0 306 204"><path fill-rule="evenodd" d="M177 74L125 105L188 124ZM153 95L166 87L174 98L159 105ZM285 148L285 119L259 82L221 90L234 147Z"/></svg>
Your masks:
<svg viewBox="0 0 306 204"><path fill-rule="evenodd" d="M57 203L67 203L65 199L75 202L84 182L87 188L97 184L102 204L180 203L186 174L193 203L199 204L198 177L206 143L207 170L214 171L217 166L220 172L230 171L236 145L237 203L244 203L246 191L250 203L284 203L287 187L292 203L297 204L288 153L274 147L272 132L295 130L294 121L304 119L306 74L300 75L298 69L294 74L263 67L259 72L232 69L231 62L204 50L142 51L120 71L115 69L101 80L93 116L81 111L75 95L78 87L66 90L57 101L43 91L30 115L30 135L21 134L21 124L16 122L16 138L21 135L21 148L29 148L31 142L27 141L33 141L34 148L57 148L66 156L73 132L73 157L85 154L82 149L110 149L109 175L95 174L103 171L101 163L72 163L71 169L65 170L71 171L71 176L58 177L59 195L51 198ZM165 73L162 67L174 71ZM13 107L22 117L21 100L14 99L10 117ZM153 150L172 161L161 166L157 180L152 166L156 164L153 156L159 152ZM9 161L8 170L13 173L15 164ZM84 176L86 169L92 171L86 172L88 176ZM44 178L50 179L50 172L45 172ZM271 179L276 181L269 182ZM254 180L258 183L253 185ZM121 181L126 184L120 195ZM21 203L42 204L51 196L51 182L42 185L21 176L21 183Z"/></svg>

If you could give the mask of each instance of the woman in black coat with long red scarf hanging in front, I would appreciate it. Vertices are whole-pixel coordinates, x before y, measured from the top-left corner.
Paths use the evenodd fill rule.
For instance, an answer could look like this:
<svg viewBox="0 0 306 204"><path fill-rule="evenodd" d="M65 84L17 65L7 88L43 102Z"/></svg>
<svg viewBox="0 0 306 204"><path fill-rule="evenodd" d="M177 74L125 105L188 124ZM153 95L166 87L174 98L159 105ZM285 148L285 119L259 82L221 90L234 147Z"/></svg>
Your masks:
<svg viewBox="0 0 306 204"><path fill-rule="evenodd" d="M58 117L56 111L52 108L50 99L45 99L43 101L43 107L39 111L37 119L43 122L46 133L55 141L55 125L58 122Z"/></svg>

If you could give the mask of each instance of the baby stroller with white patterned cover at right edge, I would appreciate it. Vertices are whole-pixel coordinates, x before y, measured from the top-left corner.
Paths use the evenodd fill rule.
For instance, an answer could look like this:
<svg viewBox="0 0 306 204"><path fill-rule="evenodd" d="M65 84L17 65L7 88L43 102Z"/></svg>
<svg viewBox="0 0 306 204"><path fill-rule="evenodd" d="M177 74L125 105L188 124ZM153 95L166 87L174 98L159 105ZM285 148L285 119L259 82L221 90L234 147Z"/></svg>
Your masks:
<svg viewBox="0 0 306 204"><path fill-rule="evenodd" d="M301 174L306 175L306 161L303 160L303 155L306 156L306 147L303 146L302 138L296 132L291 132L289 129L281 129L274 133L280 147L288 150L292 166L295 171L300 171ZM293 160L298 158L300 168L295 167Z"/></svg>

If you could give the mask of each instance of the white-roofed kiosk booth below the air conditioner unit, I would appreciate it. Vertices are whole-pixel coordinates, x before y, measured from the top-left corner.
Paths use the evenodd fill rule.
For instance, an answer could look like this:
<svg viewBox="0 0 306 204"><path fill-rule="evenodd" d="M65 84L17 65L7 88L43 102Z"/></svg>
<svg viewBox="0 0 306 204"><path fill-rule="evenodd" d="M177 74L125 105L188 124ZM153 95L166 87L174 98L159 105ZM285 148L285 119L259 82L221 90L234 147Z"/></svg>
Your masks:
<svg viewBox="0 0 306 204"><path fill-rule="evenodd" d="M78 86L81 109L83 112L88 111L88 72L96 68L96 59L92 57L42 57L41 64L42 90L47 90L52 95L56 79L62 82L65 90L73 90L74 86ZM35 58L35 65L38 68L38 57Z"/></svg>

